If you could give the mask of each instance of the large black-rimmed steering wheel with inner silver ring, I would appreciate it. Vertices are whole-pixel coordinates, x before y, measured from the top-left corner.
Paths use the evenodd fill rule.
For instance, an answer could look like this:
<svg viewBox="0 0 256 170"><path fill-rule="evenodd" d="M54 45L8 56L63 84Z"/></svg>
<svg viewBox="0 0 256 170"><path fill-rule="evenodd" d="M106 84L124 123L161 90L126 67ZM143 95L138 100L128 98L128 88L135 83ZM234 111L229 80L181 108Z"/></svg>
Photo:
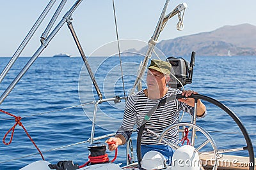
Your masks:
<svg viewBox="0 0 256 170"><path fill-rule="evenodd" d="M160 106L162 106L164 103L172 101L174 99L181 99L184 98L184 96L182 95L177 95L176 97L170 96L168 97L166 100L164 101L160 101L158 104L156 104L156 106L154 106L150 111L148 111L148 113L152 112L154 113L154 111L156 111L157 108L159 108ZM207 97L207 96L203 96L200 94L192 94L189 97L186 98L193 98L195 99L195 101L197 101L198 99L202 99L204 101L208 101L209 103L212 103L216 106L218 106L219 108L221 108L221 110L225 111L238 125L239 129L241 130L241 132L243 133L244 139L246 141L247 146L243 147L243 150L248 150L249 153L249 160L250 160L250 170L253 170L255 167L255 160L254 160L254 152L253 152L253 145L252 145L252 141L250 139L250 136L248 134L248 132L246 131L244 125L241 123L241 121L239 120L239 118L236 116L236 114L231 111L229 108L227 108L227 106L225 106L224 104L220 103L219 101L216 101L215 99L212 99L211 97ZM150 115L152 115L152 113ZM138 132L138 138L137 138L137 148L136 148L136 152L137 152L137 158L138 158L138 163L141 167L141 136L143 134L143 131L145 131L145 125L147 124L147 120L143 120L143 124L140 127L140 131ZM196 129L196 131L200 131L202 132L202 134L204 134L204 136L207 138L207 141L204 141L204 143L202 143L198 148L196 148L196 150L200 150L203 146L205 146L205 143L210 142L212 145L212 148L214 150L214 153L216 155L216 153L218 152L217 147L211 137L211 135L205 131L204 129L202 129L202 127L199 127L198 125L195 124L190 124L190 123L177 123L177 124L173 124L170 125L169 127L167 127L160 135L156 134L152 131L150 131L150 129L147 129L148 131L152 132L153 135L158 136L158 142L161 142L162 140L169 146L171 146L174 150L177 150L180 146L175 145L174 143L172 143L171 141L168 141L167 139L164 138L164 134L166 134L166 132L168 132L170 129L173 129L173 127L179 127L179 126L189 126L192 127L194 129ZM216 161L218 160L218 158L216 158ZM214 166L212 169L217 169L218 164L216 164L216 166Z"/></svg>

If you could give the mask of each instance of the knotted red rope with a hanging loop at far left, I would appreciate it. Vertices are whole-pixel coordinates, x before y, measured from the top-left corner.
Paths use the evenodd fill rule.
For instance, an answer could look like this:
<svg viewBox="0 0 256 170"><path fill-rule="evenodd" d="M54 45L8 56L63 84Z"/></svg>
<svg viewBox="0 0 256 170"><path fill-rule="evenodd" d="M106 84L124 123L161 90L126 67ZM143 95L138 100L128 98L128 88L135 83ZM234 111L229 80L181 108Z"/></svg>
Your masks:
<svg viewBox="0 0 256 170"><path fill-rule="evenodd" d="M36 146L36 143L33 141L33 139L31 138L31 136L28 134L28 131L26 130L26 128L24 127L24 125L22 124L22 122L20 122L20 120L22 119L21 117L17 117L15 115L13 115L12 113L8 113L7 111L4 111L4 110L0 110L1 112L7 114L7 115L10 115L11 117L14 117L15 118L15 124L13 125L13 127L11 127L9 129L9 131L6 132L6 134L4 135L4 138L3 138L3 143L4 145L10 145L12 143L12 139L13 139L13 135L14 135L14 130L15 130L15 127L17 125L20 125L24 131L26 132L28 138L30 139L30 141L33 143L33 145L36 147L36 149L38 150L38 152L40 153L42 159L44 160L44 156L42 154L42 152L40 151L40 149ZM10 138L10 141L8 143L5 142L5 138L6 136L8 136L8 134L12 131L12 134L11 134L11 138Z"/></svg>

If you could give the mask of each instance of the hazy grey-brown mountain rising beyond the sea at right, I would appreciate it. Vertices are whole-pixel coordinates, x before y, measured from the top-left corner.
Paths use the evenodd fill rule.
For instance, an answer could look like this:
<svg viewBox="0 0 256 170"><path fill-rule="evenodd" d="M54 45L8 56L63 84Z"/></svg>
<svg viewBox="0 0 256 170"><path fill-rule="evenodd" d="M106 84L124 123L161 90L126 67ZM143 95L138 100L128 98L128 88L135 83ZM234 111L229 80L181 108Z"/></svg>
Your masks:
<svg viewBox="0 0 256 170"><path fill-rule="evenodd" d="M250 24L226 25L211 32L201 32L189 36L160 41L156 47L166 57L190 56L192 51L198 56L256 56L256 27ZM134 49L131 49L134 51ZM147 46L139 53L146 53Z"/></svg>

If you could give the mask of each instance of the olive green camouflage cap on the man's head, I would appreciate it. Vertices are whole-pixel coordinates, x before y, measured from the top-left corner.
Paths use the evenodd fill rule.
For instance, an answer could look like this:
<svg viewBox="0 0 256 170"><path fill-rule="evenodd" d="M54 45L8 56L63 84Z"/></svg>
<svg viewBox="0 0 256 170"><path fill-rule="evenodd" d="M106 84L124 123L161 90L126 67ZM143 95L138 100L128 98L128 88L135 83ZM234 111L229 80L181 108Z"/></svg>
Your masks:
<svg viewBox="0 0 256 170"><path fill-rule="evenodd" d="M170 62L166 62L163 60L156 60L156 59L151 60L151 63L148 66L148 69L154 69L163 74L171 74L171 68L172 68L172 64L170 64Z"/></svg>

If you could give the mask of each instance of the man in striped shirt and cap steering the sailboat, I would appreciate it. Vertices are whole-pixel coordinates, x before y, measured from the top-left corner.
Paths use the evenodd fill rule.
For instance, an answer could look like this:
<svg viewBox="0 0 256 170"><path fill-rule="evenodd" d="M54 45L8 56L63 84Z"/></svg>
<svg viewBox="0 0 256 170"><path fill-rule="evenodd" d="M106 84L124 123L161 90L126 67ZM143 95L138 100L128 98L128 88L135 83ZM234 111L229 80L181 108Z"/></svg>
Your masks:
<svg viewBox="0 0 256 170"><path fill-rule="evenodd" d="M183 92L177 89L167 87L170 81L170 71L172 65L169 62L162 60L151 60L147 71L147 89L141 90L133 96L129 96L125 104L124 118L121 127L116 132L114 138L109 138L106 142L115 142L109 145L109 150L115 150L118 145L124 145L131 137L134 125L140 127L145 115L155 106L161 99L168 96L182 94L184 99L176 99L163 104L158 108L148 120L146 127L151 131L161 134L164 129L179 120L181 110L193 114L194 99L185 98L191 94L198 94L193 90L184 90ZM204 104L198 100L196 108L196 116L204 117L206 109ZM177 128L172 129L164 138L169 139L173 143L180 145L179 132ZM141 155L145 155L150 150L156 150L164 155L166 159L172 158L172 148L164 142L157 143L157 137L144 131L141 138Z"/></svg>

